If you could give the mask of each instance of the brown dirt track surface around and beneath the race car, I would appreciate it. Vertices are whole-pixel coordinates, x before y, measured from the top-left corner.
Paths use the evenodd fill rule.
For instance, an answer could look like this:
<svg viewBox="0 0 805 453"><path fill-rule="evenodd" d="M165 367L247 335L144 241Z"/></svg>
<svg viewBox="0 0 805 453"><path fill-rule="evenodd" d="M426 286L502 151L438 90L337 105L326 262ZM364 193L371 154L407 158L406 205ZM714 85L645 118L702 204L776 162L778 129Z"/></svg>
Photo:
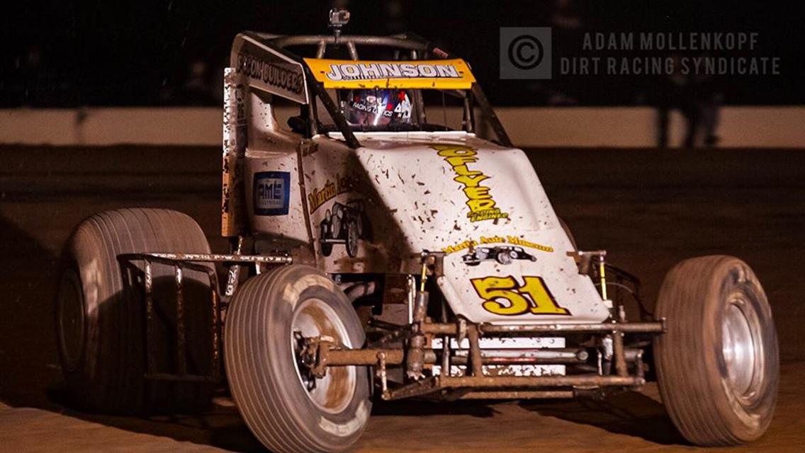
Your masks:
<svg viewBox="0 0 805 453"><path fill-rule="evenodd" d="M803 451L805 153L790 150L531 150L581 249L642 278L696 255L745 259L774 309L781 391L768 433L729 451ZM175 208L218 233L220 152L0 147L0 451L260 451L219 410L155 418L64 405L53 336L56 260L72 226L103 209ZM654 385L604 402L376 405L355 451L687 451ZM725 450L726 451L726 450Z"/></svg>

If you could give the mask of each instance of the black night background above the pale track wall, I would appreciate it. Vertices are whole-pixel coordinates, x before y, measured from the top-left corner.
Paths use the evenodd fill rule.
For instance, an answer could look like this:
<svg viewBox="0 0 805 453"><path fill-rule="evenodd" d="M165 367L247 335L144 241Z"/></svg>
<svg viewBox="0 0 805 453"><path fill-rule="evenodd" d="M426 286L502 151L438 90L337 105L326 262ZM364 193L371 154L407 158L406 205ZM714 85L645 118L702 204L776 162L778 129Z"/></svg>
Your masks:
<svg viewBox="0 0 805 453"><path fill-rule="evenodd" d="M558 75L558 57L577 53L584 31L758 32L759 48L745 55L780 57L782 74L720 77L725 104L805 104L799 83L805 73L803 2L337 3L353 13L345 33L414 31L463 56L496 105L651 104L656 77ZM328 33L332 5L310 0L6 3L0 14L0 107L220 105L221 71L238 31ZM499 27L553 27L554 80L499 80Z"/></svg>

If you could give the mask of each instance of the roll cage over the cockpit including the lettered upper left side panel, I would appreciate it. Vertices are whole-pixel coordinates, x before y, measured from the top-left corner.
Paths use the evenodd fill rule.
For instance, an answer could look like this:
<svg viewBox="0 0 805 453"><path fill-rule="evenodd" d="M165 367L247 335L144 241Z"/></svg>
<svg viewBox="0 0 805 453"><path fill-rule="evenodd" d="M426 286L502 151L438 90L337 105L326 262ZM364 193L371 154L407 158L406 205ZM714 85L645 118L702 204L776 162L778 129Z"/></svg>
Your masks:
<svg viewBox="0 0 805 453"><path fill-rule="evenodd" d="M313 47L313 56L321 59L329 50L345 48L350 60L359 60L358 47L386 47L393 51L394 60L448 60L456 58L448 51L436 47L417 35L403 34L391 36L354 35L271 35L254 31L238 34L233 42L230 66L242 72L248 80L250 89L279 96L294 101L301 107L299 126L308 137L336 129L341 132L346 144L351 148L361 146L353 127L349 125L336 101L332 99L324 84L316 80L311 68L302 56L289 50L294 47ZM494 113L481 85L472 83L468 91L444 90L452 97L461 99L464 107L463 125L467 132L476 132L474 106L478 110L495 139L503 146L511 146L509 136L497 115ZM419 123L424 123L423 97L414 96L414 108ZM328 128L318 121L317 109L323 108L332 118L334 128ZM304 120L302 118L305 118ZM330 129L330 130L328 130Z"/></svg>

